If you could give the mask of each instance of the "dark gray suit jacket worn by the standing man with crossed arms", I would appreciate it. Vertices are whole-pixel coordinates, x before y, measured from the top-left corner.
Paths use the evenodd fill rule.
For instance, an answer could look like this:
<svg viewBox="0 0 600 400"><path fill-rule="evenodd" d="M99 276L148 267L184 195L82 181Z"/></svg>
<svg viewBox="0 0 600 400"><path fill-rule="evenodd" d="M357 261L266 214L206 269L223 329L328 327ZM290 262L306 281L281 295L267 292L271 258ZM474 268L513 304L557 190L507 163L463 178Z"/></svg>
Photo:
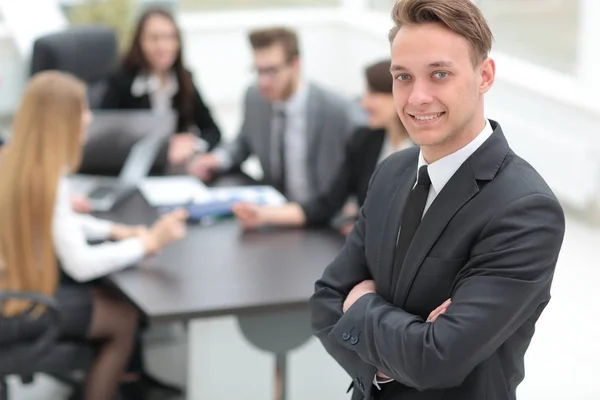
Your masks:
<svg viewBox="0 0 600 400"><path fill-rule="evenodd" d="M314 332L370 399L376 370L395 379L386 400L514 400L534 325L550 300L564 215L498 123L438 194L393 280L404 203L418 148L374 172L359 219L311 298ZM377 293L346 313L350 290ZM452 305L434 323L428 314Z"/></svg>

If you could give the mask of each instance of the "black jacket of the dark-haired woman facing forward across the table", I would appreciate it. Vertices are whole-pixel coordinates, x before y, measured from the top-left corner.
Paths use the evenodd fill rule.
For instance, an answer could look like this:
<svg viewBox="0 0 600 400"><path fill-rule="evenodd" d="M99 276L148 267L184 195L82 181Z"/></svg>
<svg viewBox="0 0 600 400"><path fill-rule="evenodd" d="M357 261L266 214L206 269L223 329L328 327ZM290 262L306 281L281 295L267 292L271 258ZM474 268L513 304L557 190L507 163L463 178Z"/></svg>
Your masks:
<svg viewBox="0 0 600 400"><path fill-rule="evenodd" d="M106 93L100 103L101 109L149 109L150 98L148 95L136 97L131 94L131 85L137 76L137 71L119 69L113 73L107 82ZM175 103L177 93L173 98ZM177 111L175 104L173 109ZM194 87L194 119L186 121L179 115L177 132L189 132L190 126L197 126L201 132L200 137L206 140L210 148L215 147L221 140L221 131L213 120L209 108L206 106L198 89Z"/></svg>

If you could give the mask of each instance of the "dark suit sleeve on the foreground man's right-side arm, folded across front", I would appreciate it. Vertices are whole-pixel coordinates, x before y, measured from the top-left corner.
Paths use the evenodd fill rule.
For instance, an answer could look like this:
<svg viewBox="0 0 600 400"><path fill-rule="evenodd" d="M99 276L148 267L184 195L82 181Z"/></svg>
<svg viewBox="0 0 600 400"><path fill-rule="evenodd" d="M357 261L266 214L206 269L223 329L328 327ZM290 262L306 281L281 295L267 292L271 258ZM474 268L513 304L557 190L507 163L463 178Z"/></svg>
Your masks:
<svg viewBox="0 0 600 400"><path fill-rule="evenodd" d="M554 198L518 199L488 222L459 274L451 306L434 323L369 294L339 319L327 340L407 386L458 386L549 301L564 224ZM345 274L354 267L329 269L335 267L321 290L347 290L342 269ZM357 343L343 340L348 331Z"/></svg>

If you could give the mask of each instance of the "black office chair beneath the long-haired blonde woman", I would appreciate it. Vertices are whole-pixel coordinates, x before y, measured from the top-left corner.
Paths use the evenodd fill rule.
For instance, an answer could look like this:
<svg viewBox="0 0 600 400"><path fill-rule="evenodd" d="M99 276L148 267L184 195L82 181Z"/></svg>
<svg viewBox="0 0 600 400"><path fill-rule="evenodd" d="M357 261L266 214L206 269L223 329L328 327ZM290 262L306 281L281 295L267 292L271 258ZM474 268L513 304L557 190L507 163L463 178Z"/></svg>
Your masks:
<svg viewBox="0 0 600 400"><path fill-rule="evenodd" d="M62 317L53 299L37 293L1 292L0 306L9 299L31 301L29 310L17 317L0 315L0 400L8 400L8 376L18 376L24 384L31 383L36 373L43 373L71 386L72 398L81 393L81 378L92 361L92 349L85 343L58 341ZM46 307L42 332L34 340L19 340L31 332L28 324L40 323L32 313L36 307ZM37 329L36 329L37 330Z"/></svg>

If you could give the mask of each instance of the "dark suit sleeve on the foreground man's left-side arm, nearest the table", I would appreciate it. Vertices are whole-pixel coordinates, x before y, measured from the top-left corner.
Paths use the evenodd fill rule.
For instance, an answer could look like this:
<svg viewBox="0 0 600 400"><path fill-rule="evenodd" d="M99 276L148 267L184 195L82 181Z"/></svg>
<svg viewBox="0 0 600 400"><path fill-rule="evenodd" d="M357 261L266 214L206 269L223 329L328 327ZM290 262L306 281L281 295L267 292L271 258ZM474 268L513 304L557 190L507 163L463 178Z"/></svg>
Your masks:
<svg viewBox="0 0 600 400"><path fill-rule="evenodd" d="M375 180L379 167L373 173L369 187ZM342 307L348 293L358 283L373 279L365 257L365 208L359 211L358 221L348 235L346 243L335 260L325 269L323 277L315 284L315 293L310 299L312 329L325 350L352 377L354 384L363 393L371 386L377 372L374 364L363 360L352 348L339 343L330 333L343 316ZM345 332L348 333L348 332ZM343 341L350 336L342 335Z"/></svg>

